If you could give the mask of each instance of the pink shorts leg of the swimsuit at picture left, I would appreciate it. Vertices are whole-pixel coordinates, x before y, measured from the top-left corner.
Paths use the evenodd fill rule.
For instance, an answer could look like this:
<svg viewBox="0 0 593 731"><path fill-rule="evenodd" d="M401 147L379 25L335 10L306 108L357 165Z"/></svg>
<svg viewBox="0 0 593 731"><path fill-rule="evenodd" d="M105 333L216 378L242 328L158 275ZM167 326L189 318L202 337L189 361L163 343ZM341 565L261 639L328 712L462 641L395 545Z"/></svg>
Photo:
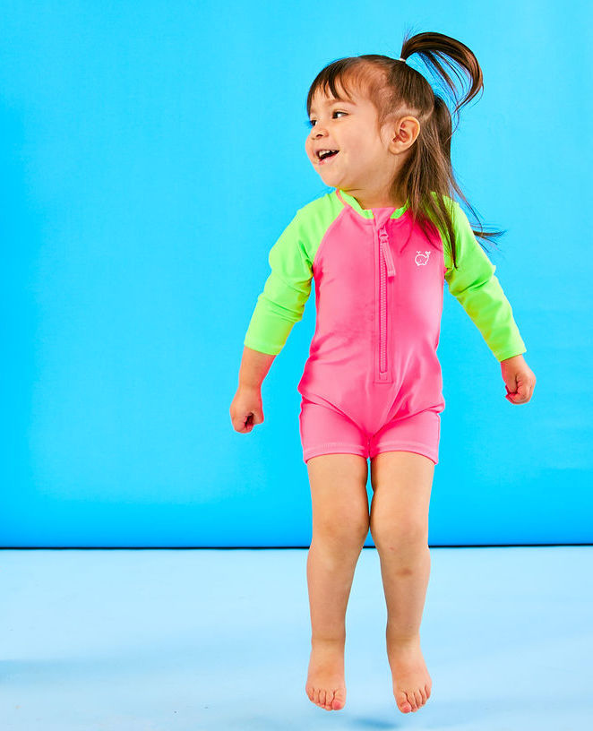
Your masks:
<svg viewBox="0 0 593 731"><path fill-rule="evenodd" d="M305 463L320 454L368 457L367 435L338 410L303 399L299 422Z"/></svg>

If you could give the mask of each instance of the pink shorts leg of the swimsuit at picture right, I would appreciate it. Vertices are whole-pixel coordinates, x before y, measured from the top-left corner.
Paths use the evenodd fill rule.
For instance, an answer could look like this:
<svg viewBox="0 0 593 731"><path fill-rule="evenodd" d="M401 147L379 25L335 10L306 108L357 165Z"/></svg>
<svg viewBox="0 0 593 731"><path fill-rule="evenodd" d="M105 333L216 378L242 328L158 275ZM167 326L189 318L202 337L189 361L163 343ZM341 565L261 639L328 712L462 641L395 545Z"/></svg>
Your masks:
<svg viewBox="0 0 593 731"><path fill-rule="evenodd" d="M420 411L412 417L397 418L379 429L370 439L371 459L381 452L417 452L434 464L439 461L441 415L436 411Z"/></svg>

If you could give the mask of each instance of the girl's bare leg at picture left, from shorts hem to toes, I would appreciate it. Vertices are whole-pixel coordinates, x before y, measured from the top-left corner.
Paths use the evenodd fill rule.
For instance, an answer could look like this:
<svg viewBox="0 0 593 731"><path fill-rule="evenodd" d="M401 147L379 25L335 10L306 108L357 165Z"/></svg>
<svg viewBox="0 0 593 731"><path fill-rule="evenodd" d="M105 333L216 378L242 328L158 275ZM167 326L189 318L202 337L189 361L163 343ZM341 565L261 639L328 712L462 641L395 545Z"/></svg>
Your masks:
<svg viewBox="0 0 593 731"><path fill-rule="evenodd" d="M313 538L307 556L311 658L309 699L325 710L346 703L346 608L358 556L369 529L368 465L356 454L323 454L307 461Z"/></svg>

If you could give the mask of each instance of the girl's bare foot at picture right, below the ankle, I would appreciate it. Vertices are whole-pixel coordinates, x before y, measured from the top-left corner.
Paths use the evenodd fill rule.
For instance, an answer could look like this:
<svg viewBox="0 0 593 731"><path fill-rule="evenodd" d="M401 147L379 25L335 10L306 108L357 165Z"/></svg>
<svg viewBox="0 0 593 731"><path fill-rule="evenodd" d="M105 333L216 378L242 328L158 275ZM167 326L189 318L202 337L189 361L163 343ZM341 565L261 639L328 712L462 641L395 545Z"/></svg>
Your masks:
<svg viewBox="0 0 593 731"><path fill-rule="evenodd" d="M430 698L433 685L420 649L420 635L406 640L390 638L387 656L393 678L393 695L402 713L417 711Z"/></svg>

